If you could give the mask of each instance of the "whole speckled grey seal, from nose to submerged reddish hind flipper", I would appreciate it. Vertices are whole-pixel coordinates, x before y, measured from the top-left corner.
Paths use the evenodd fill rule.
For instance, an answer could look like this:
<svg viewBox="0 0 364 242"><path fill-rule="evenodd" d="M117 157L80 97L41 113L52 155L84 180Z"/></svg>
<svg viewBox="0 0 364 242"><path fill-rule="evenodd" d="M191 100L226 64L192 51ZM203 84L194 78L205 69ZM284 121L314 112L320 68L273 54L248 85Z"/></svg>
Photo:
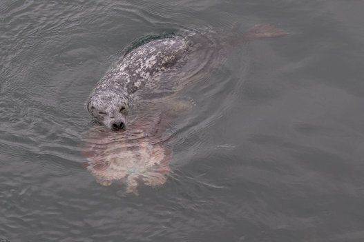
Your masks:
<svg viewBox="0 0 364 242"><path fill-rule="evenodd" d="M236 46L245 40L279 37L287 34L270 25L253 26L245 34L229 34L224 43ZM137 92L153 94L164 85L171 90L180 79L188 79L191 73L200 72L201 63L210 61L223 49L199 34L171 34L152 39L128 51L126 55L97 83L91 92L87 110L97 122L111 130L126 128L126 117ZM218 36L218 34L215 34ZM203 51L201 51L203 50ZM212 53L212 54L211 54ZM216 67L216 65L211 65ZM163 81L162 81L163 80Z"/></svg>

